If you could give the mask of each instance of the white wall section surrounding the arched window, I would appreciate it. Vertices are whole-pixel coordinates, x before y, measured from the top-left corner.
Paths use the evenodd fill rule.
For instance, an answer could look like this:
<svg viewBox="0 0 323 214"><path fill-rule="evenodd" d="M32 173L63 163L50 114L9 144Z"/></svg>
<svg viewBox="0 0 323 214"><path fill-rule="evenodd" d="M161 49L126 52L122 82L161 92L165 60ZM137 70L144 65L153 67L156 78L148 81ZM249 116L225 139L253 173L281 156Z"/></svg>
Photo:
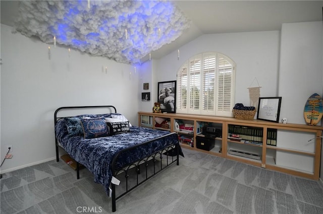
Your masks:
<svg viewBox="0 0 323 214"><path fill-rule="evenodd" d="M205 51L220 52L236 62L235 100L247 106L250 105L247 88L255 78L262 87L260 96L277 96L279 43L279 31L206 34L182 46L179 60L177 51L158 60L157 79L176 80L177 70L189 57Z"/></svg>

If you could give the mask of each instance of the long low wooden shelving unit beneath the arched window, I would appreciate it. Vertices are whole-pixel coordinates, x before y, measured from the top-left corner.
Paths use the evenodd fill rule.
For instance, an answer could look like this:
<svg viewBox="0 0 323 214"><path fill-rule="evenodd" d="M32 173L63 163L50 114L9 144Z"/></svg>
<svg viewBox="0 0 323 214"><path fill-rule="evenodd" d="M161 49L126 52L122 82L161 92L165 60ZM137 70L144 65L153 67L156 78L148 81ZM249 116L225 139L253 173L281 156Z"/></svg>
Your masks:
<svg viewBox="0 0 323 214"><path fill-rule="evenodd" d="M292 124L292 123L275 123L275 122L267 122L262 120L238 120L231 117L216 117L216 116L205 116L205 115L190 115L190 114L173 114L173 113L151 113L151 112L138 112L138 121L139 126L145 126L150 128L155 128L154 125L152 127L149 125L145 125L141 123L142 116L146 116L144 118L149 117L149 120L154 124L155 117L164 117L169 118L170 120L170 129L171 132L176 131L174 128L174 122L176 120L190 120L194 123L194 131L193 131L193 147L185 144L181 144L182 147L196 150L199 152L204 152L210 155L219 156L227 159L231 159L234 161L243 162L246 164L251 164L254 166L271 169L283 173L288 173L296 176L301 176L313 180L319 179L319 168L320 168L320 151L321 151L321 137L322 136L322 126L309 126L305 124ZM196 136L201 135L199 125L202 123L211 123L216 124L217 126L221 126L222 128L222 137L217 137L216 140L220 141L220 149L219 147L214 150L205 151L196 148ZM244 142L233 141L228 139L228 126L229 125L241 125L241 126L249 126L249 127L258 127L262 128L262 145L252 145L252 144L244 144ZM266 145L267 141L267 129L277 129L278 131L282 130L284 132L292 135L293 133L309 133L313 136L313 140L311 143L313 144L313 151L305 151L299 150L293 146L293 142L289 142L289 147L286 145L280 146L281 142L277 140L277 146ZM279 133L278 133L279 134ZM309 140L309 139L308 139ZM304 141L304 145L309 144L306 140ZM219 145L218 145L219 146ZM258 151L260 155L260 160L254 160L251 158L236 156L229 154L229 150L231 148L239 148L245 152L254 152ZM220 152L220 151L221 152ZM312 164L310 166L311 169L301 169L297 167L290 167L284 163L284 166L276 163L276 155L280 152L289 153L295 157L304 156L308 159L312 160Z"/></svg>

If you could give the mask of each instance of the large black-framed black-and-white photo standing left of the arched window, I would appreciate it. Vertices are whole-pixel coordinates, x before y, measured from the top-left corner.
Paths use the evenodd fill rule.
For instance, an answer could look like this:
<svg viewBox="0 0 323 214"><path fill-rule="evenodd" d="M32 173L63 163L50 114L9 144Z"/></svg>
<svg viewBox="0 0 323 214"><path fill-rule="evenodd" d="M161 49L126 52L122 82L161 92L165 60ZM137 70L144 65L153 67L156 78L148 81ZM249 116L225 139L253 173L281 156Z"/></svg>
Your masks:
<svg viewBox="0 0 323 214"><path fill-rule="evenodd" d="M176 81L158 82L158 103L161 112L176 111Z"/></svg>

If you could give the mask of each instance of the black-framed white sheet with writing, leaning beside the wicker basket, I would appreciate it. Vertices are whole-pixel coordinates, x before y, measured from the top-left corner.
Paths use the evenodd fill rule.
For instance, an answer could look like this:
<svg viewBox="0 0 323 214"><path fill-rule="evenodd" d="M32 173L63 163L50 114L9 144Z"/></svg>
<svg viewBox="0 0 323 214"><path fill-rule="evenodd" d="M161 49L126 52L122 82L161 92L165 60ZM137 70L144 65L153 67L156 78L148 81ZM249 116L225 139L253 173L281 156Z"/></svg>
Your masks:
<svg viewBox="0 0 323 214"><path fill-rule="evenodd" d="M282 97L259 97L257 119L279 122Z"/></svg>

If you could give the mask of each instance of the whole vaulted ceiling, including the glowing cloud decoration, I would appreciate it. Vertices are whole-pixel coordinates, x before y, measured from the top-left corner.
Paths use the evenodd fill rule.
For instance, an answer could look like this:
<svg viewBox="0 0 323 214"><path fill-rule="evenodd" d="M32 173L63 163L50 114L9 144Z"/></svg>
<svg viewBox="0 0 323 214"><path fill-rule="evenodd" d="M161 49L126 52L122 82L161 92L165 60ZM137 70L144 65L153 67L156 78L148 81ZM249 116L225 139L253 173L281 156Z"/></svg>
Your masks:
<svg viewBox="0 0 323 214"><path fill-rule="evenodd" d="M322 21L323 1L1 1L1 23L43 42L125 63L163 57L203 34ZM66 21L66 22L63 22ZM113 41L113 42L112 42Z"/></svg>

